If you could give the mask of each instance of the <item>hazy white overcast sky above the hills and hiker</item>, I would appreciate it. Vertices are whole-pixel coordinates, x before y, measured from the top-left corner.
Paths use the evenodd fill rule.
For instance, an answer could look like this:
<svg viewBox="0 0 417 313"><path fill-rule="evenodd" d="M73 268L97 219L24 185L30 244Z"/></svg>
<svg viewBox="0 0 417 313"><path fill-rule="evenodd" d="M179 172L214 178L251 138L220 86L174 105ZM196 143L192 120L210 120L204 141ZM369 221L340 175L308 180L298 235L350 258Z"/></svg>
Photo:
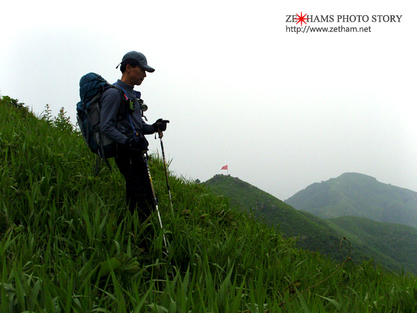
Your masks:
<svg viewBox="0 0 417 313"><path fill-rule="evenodd" d="M0 93L38 114L65 107L75 122L81 76L113 83L122 56L141 51L156 71L136 90L149 122L171 121L163 140L177 175L205 181L228 165L281 200L343 172L417 191L415 1L103 3L3 3ZM301 12L334 17L309 26L370 32L286 31Z"/></svg>

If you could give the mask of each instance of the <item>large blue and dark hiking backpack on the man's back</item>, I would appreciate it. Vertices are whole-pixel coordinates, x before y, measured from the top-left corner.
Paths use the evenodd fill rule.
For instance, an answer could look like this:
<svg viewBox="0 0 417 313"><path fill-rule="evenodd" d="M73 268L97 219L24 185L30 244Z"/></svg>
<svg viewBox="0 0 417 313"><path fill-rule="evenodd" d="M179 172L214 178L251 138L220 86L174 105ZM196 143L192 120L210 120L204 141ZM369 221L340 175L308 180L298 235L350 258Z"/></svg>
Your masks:
<svg viewBox="0 0 417 313"><path fill-rule="evenodd" d="M123 99L126 95L124 95L123 90L108 83L106 79L95 73L85 74L80 79L81 101L76 104L76 119L90 150L106 161L110 168L107 159L115 157L116 143L101 134L100 130L101 96L108 88L117 88L120 91L120 109L117 113L117 121L120 125L126 111L123 105Z"/></svg>

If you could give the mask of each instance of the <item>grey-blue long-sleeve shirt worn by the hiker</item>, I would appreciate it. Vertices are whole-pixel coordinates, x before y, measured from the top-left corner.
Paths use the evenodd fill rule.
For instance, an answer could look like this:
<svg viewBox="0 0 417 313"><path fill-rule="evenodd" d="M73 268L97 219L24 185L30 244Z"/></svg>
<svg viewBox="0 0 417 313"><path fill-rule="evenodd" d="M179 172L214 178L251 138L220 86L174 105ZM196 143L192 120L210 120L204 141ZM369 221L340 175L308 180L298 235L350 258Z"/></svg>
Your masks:
<svg viewBox="0 0 417 313"><path fill-rule="evenodd" d="M131 137L126 135L132 134L133 128L134 131L137 131L139 134L154 134L154 127L145 123L142 119L140 104L138 99L136 99L136 94L133 92L133 87L127 85L120 79L117 80L115 84L124 90L129 100L133 100L135 111L130 113L129 107L126 107L126 113L124 113L122 120L120 120L120 126L117 127L117 113L120 105L125 104L127 106L127 104L120 99L119 90L116 88L108 88L101 97L101 133L122 145L127 145L129 143Z"/></svg>

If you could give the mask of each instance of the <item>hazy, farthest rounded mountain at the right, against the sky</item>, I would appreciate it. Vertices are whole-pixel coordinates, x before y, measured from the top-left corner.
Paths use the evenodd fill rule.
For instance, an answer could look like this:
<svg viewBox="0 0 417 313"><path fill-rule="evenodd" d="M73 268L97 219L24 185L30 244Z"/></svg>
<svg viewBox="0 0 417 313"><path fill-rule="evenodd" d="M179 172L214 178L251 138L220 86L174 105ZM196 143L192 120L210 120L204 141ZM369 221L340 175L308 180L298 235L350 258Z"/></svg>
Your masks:
<svg viewBox="0 0 417 313"><path fill-rule="evenodd" d="M417 227L415 191L354 172L311 184L285 202L321 218L361 216Z"/></svg>

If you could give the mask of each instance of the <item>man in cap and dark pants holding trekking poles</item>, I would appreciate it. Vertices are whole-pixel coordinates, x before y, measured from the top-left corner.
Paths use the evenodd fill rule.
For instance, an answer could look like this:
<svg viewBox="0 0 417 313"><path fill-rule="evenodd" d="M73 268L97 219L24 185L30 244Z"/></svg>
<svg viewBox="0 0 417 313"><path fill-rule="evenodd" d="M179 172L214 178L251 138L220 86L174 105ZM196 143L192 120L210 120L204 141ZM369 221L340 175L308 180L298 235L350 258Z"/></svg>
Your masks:
<svg viewBox="0 0 417 313"><path fill-rule="evenodd" d="M149 125L142 120L142 111L138 98L140 93L134 86L140 86L147 72L154 68L147 65L146 57L137 51L126 53L120 66L122 78L115 86L124 91L121 101L120 92L116 88L108 88L101 97L101 132L117 143L115 162L126 179L126 201L131 214L138 211L143 222L155 209L152 186L143 159L143 152L148 150L148 142L144 135L166 130L166 120L158 119ZM116 68L117 68L116 67ZM120 105L127 106L121 120L117 120Z"/></svg>

